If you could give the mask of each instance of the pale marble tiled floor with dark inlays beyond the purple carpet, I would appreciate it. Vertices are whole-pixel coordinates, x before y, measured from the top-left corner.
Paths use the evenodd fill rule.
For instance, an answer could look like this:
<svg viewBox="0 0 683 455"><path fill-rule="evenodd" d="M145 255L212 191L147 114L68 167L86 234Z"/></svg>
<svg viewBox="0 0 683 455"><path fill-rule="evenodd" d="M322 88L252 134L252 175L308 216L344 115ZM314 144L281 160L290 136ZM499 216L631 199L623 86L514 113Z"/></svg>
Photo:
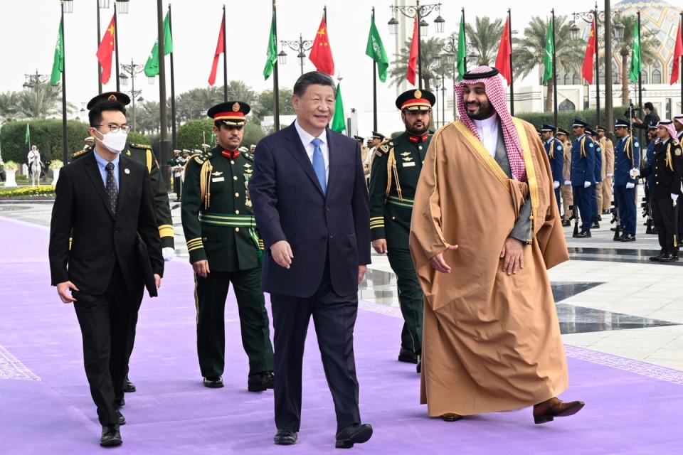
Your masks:
<svg viewBox="0 0 683 455"><path fill-rule="evenodd" d="M176 255L187 257L179 203L171 203ZM50 203L0 204L0 216L47 227ZM638 220L637 241L614 242L611 225L601 223L586 240L571 238L571 260L549 271L563 341L568 345L644 360L683 370L683 262L655 264L657 236L645 235ZM396 278L386 256L373 254L359 297L370 309L400 317Z"/></svg>

